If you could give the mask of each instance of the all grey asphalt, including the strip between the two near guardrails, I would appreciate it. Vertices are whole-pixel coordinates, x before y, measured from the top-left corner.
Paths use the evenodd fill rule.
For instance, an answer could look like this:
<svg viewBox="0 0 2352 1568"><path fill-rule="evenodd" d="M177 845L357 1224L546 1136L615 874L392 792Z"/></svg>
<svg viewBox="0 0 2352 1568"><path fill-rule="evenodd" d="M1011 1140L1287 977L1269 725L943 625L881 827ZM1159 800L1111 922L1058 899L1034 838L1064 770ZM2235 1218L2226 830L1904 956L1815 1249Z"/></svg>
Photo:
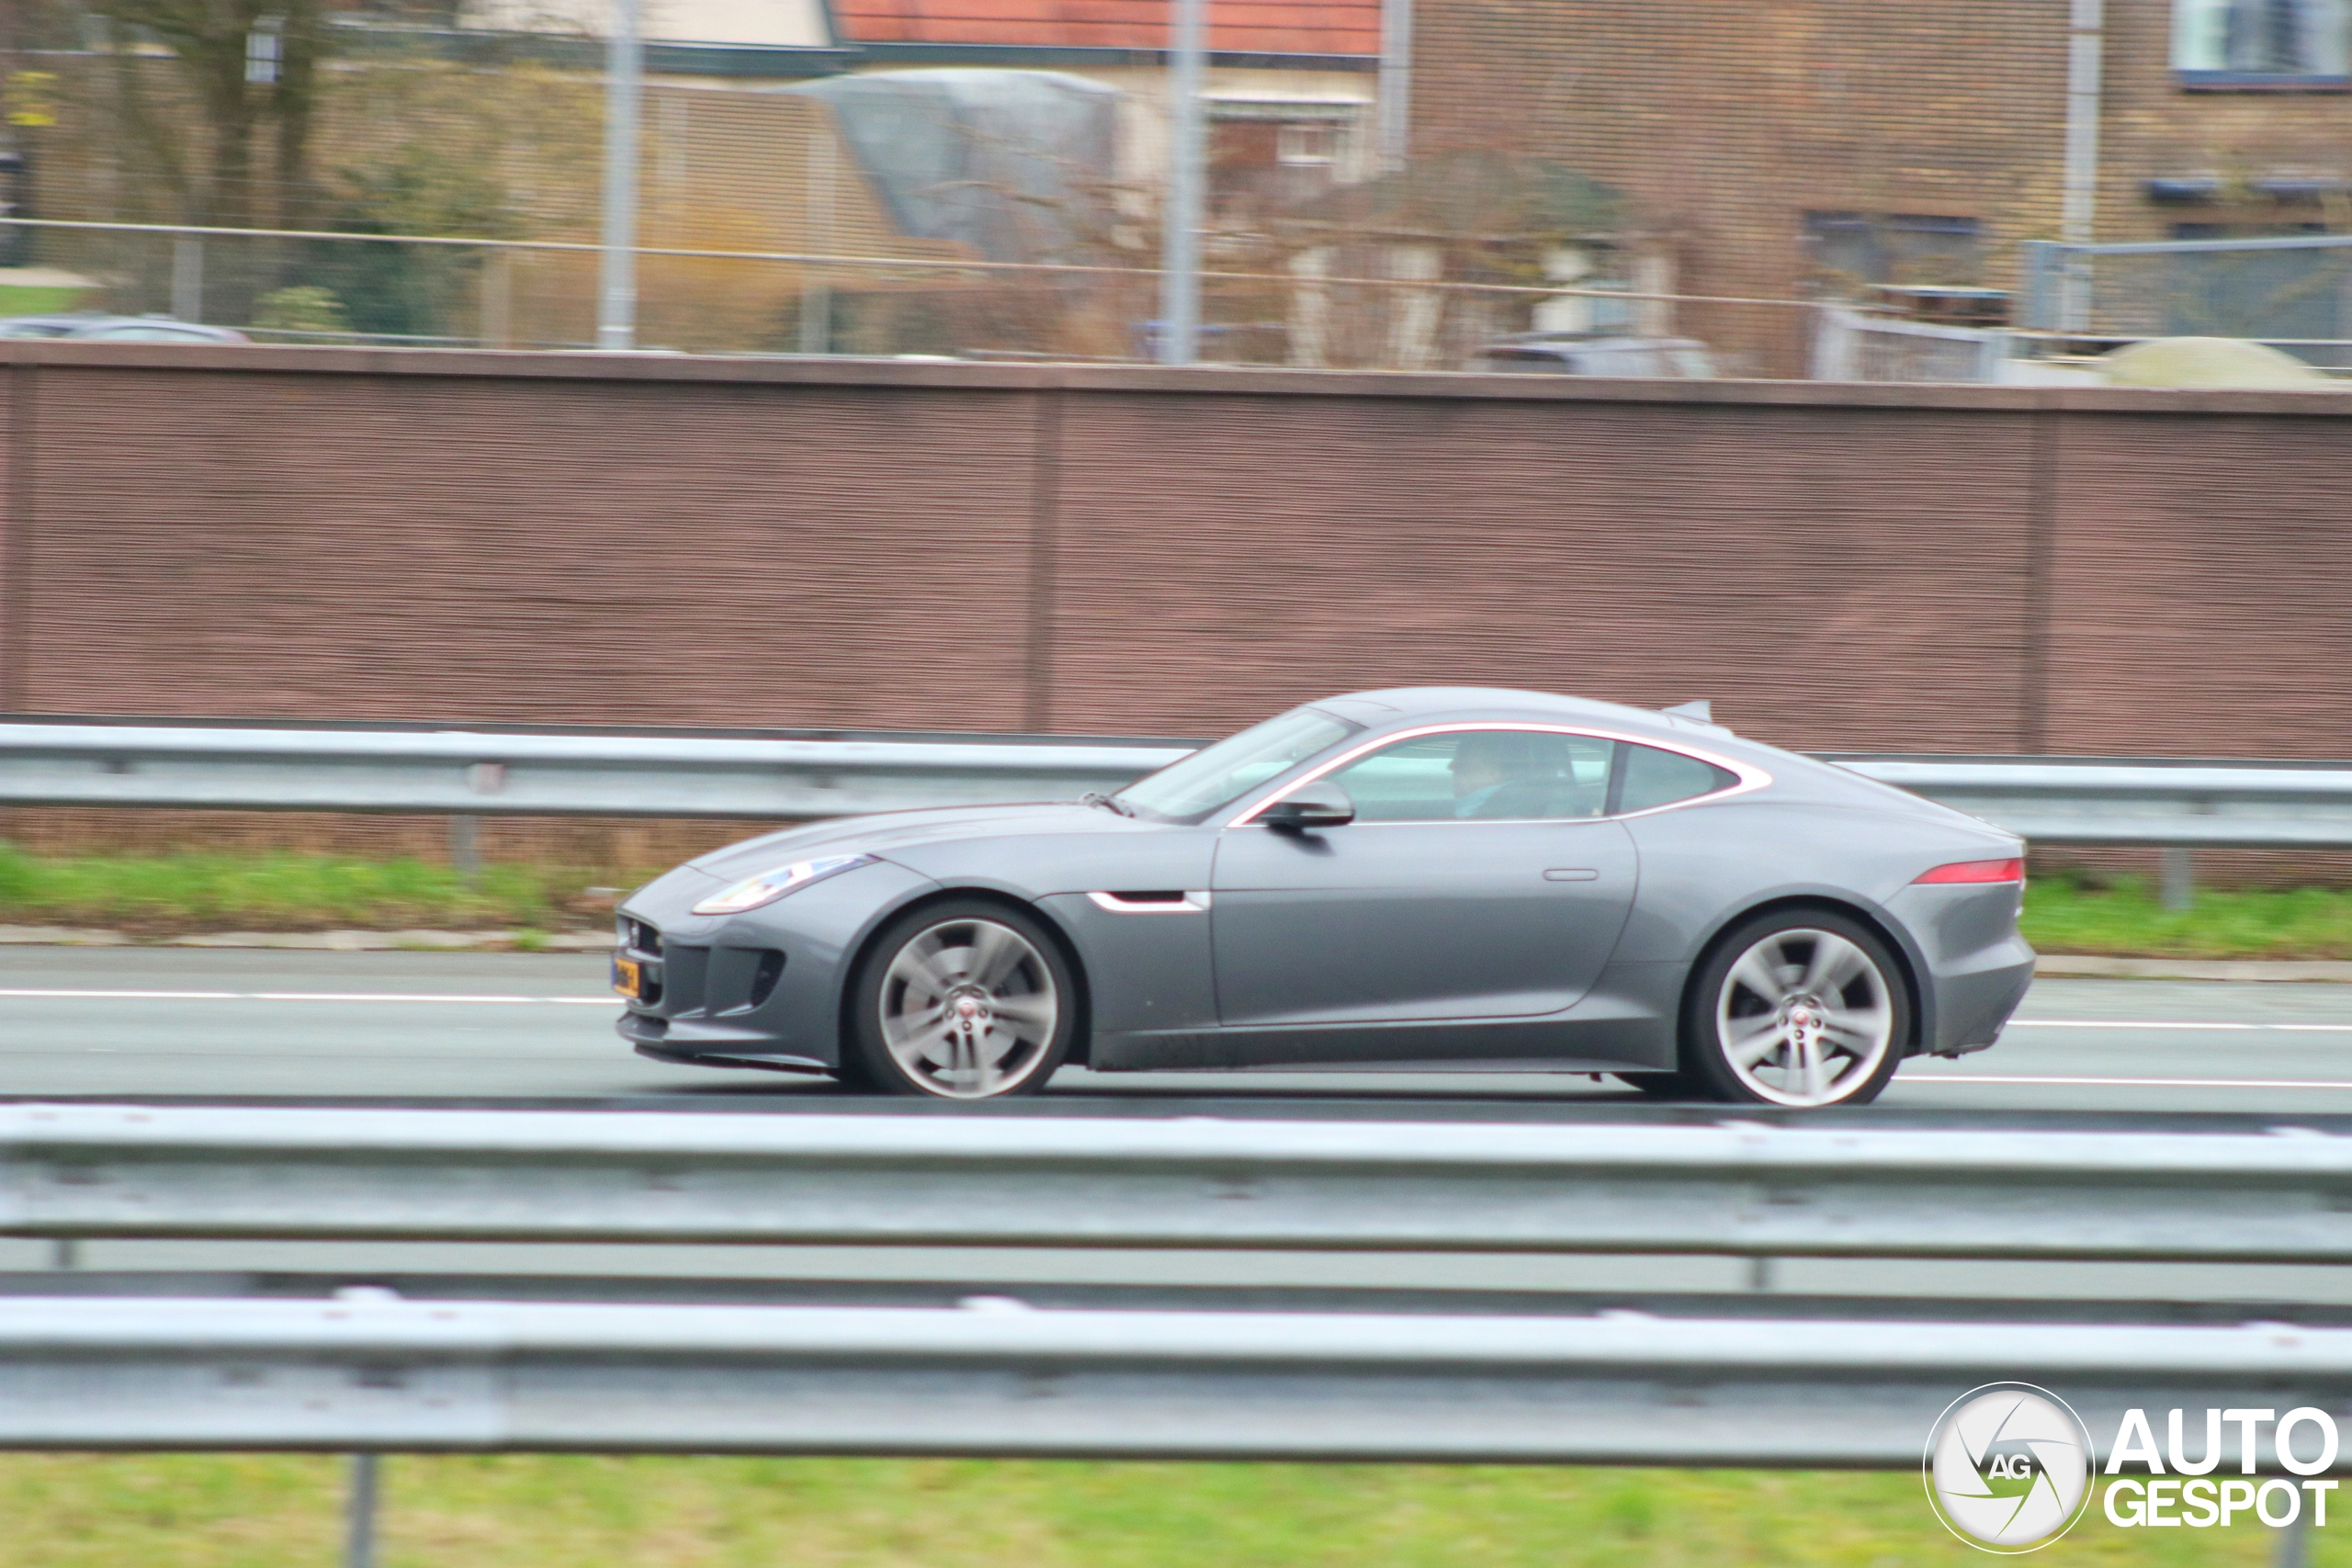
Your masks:
<svg viewBox="0 0 2352 1568"><path fill-rule="evenodd" d="M826 1084L668 1067L612 1032L604 961L579 954L329 954L0 947L0 1098L383 1095L844 1105ZM1129 1114L1590 1114L1646 1105L1583 1074L1065 1072L1049 1100ZM906 1103L896 1103L906 1107ZM1385 1112L1388 1105L1381 1110ZM2352 985L2044 980L1992 1051L1912 1063L1910 1112L2352 1112ZM849 1105L844 1105L847 1110ZM946 1112L953 1114L953 1112ZM1606 1112L1623 1114L1623 1112ZM1649 1114L1649 1112L1642 1112ZM1867 1114L1867 1112L1863 1112ZM0 1239L9 1269L644 1274L1080 1286L1390 1286L1439 1291L1792 1291L1917 1298L2352 1302L2352 1272L2065 1262L1550 1255L1087 1253L1082 1248L468 1246Z"/></svg>

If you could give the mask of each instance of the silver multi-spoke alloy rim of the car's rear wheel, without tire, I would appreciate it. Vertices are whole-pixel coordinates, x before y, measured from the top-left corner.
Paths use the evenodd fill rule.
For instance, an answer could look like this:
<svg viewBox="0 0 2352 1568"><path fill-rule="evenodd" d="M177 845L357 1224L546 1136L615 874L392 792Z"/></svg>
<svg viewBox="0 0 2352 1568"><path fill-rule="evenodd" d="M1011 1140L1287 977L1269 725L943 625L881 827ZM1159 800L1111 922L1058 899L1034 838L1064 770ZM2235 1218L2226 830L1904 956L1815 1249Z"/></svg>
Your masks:
<svg viewBox="0 0 2352 1568"><path fill-rule="evenodd" d="M1837 931L1757 938L1715 999L1724 1065L1773 1105L1837 1105L1877 1074L1893 1046L1886 987L1877 959Z"/></svg>

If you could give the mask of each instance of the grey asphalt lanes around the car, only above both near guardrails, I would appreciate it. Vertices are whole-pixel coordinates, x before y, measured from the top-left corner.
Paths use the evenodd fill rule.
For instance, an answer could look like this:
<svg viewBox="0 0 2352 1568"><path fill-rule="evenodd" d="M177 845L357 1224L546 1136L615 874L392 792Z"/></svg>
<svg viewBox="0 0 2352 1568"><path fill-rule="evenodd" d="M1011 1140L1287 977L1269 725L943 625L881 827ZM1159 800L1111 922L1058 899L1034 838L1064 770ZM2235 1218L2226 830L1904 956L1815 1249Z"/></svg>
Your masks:
<svg viewBox="0 0 2352 1568"><path fill-rule="evenodd" d="M840 1095L644 1060L614 1011L583 954L0 947L0 1095ZM1359 1072L1063 1072L1049 1093L1630 1098L1583 1074ZM1910 1063L1879 1105L2352 1112L2352 985L2042 980L1999 1046Z"/></svg>

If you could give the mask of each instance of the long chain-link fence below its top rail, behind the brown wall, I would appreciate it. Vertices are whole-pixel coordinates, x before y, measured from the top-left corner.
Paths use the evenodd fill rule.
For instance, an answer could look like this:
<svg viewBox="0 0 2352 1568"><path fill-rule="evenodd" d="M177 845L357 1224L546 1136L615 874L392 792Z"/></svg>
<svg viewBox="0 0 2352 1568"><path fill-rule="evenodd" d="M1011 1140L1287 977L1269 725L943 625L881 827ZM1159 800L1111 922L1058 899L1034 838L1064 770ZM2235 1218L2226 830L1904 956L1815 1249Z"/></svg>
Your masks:
<svg viewBox="0 0 2352 1568"><path fill-rule="evenodd" d="M233 327L275 343L590 348L597 249L569 240L343 235L24 221L28 252L82 280L75 306ZM1336 249L1279 273L1204 275L1202 357L1322 369L1752 374L1710 336L1802 341L1809 308L1602 287L1355 275ZM1381 256L1362 256L1378 266ZM637 343L677 353L1150 360L1145 266L917 261L642 247ZM1639 343L1693 355L1578 367Z"/></svg>

